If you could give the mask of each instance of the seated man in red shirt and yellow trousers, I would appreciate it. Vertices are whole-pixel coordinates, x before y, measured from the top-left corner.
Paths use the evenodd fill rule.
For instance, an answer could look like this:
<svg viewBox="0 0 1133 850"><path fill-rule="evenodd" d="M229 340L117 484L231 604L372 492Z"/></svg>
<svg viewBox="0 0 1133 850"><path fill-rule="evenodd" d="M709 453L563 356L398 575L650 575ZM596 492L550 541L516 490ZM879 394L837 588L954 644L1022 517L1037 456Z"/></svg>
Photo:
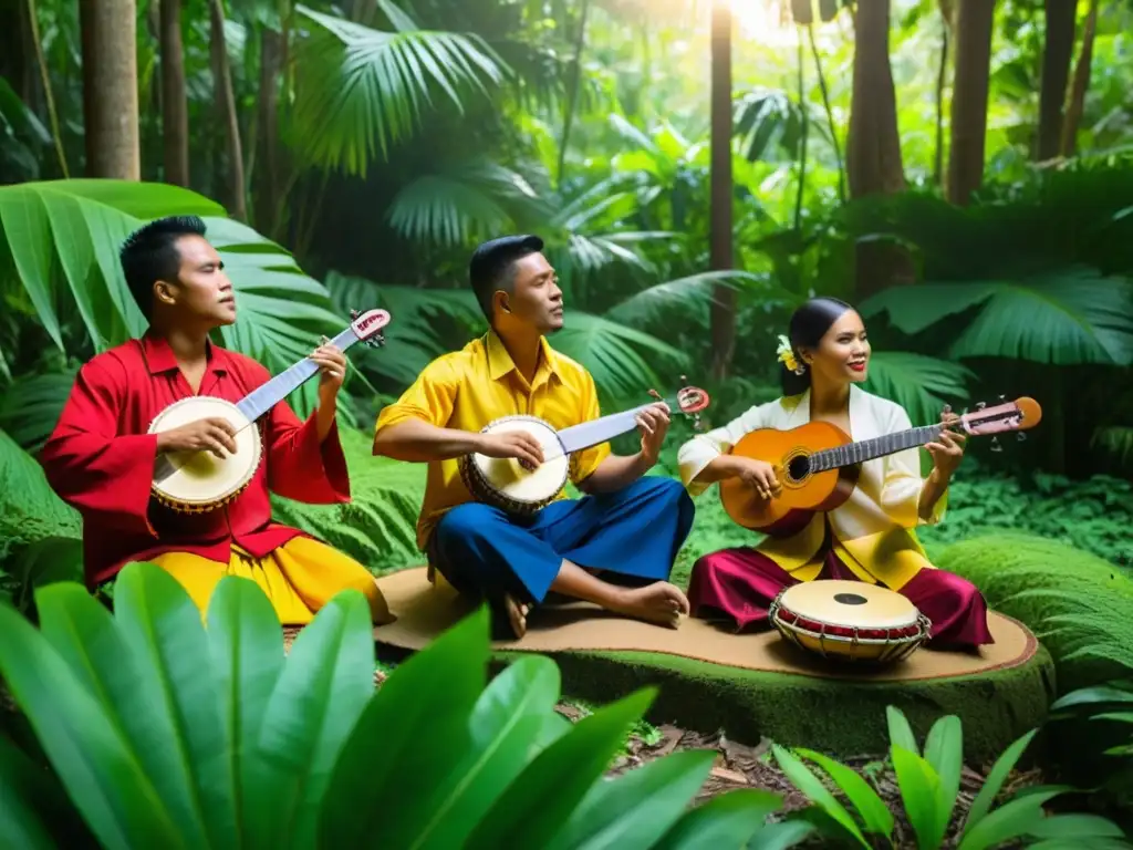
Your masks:
<svg viewBox="0 0 1133 850"><path fill-rule="evenodd" d="M272 522L269 492L307 502L350 501L335 410L346 356L331 345L310 355L320 367L318 408L300 422L280 401L261 420L263 459L247 488L227 505L181 513L152 498L154 465L165 452L235 452L235 431L220 418L160 434L150 423L190 396L237 402L270 380L255 360L208 335L236 322L232 283L196 216L153 221L126 240L122 270L150 328L79 369L70 398L41 454L51 486L83 516L87 586L129 561L173 575L205 612L225 575L263 588L283 624L304 624L346 588L389 622L374 577L357 561L295 528Z"/></svg>

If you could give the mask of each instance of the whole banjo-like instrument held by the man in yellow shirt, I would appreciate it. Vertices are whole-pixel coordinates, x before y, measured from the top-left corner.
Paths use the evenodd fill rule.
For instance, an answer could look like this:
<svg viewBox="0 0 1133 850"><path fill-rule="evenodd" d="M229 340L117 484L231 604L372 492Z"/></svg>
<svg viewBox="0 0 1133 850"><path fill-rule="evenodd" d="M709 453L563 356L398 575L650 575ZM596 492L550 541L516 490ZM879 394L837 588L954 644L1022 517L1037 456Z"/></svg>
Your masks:
<svg viewBox="0 0 1133 850"><path fill-rule="evenodd" d="M708 393L696 386L684 386L673 399L662 399L671 410L699 419L708 407ZM543 447L543 464L525 469L514 458L489 458L474 452L460 459L460 476L472 496L480 502L512 515L530 516L553 502L570 477L571 456L599 445L637 427L637 416L657 401L631 410L603 416L572 425L562 431L537 416L504 416L484 427L482 434L525 431Z"/></svg>

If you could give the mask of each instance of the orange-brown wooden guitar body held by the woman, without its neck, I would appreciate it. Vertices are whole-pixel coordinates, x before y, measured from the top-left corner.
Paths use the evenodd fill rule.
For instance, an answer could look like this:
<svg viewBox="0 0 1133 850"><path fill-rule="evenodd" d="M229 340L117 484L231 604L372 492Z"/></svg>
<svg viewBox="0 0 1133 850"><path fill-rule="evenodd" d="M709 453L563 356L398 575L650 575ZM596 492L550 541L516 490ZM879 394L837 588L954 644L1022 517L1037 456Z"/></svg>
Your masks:
<svg viewBox="0 0 1133 850"><path fill-rule="evenodd" d="M849 442L849 434L828 422L810 422L790 431L752 431L732 447L731 453L770 464L783 490L774 499L764 500L739 478L722 481L724 510L744 528L772 536L793 534L811 513L832 511L853 493L860 467L811 473L808 462L815 452Z"/></svg>

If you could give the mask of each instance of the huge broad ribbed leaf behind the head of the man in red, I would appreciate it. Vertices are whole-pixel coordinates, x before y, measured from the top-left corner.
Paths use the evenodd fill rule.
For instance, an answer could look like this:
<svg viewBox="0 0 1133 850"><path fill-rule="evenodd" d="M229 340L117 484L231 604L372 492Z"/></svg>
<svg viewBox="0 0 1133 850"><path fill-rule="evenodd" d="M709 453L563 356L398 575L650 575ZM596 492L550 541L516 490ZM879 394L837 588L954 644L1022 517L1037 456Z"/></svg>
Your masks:
<svg viewBox="0 0 1133 850"><path fill-rule="evenodd" d="M0 296L35 316L59 347L66 320L80 316L97 351L145 330L118 258L134 229L163 215L201 215L237 291L237 323L221 329L225 346L272 373L305 357L322 333L346 320L326 289L279 245L224 218L201 195L163 184L56 180L0 187Z"/></svg>

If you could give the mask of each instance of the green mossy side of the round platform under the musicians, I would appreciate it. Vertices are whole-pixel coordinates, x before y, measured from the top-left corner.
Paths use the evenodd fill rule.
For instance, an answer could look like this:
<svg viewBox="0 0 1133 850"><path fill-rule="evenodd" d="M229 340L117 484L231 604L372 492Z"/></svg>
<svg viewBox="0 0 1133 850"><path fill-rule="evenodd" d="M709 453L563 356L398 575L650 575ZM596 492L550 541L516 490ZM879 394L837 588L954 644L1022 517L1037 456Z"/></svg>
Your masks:
<svg viewBox="0 0 1133 850"><path fill-rule="evenodd" d="M384 657L403 653L380 646ZM922 651L925 652L925 651ZM1025 664L979 675L911 682L854 682L739 670L655 653L548 653L563 692L610 703L637 688L659 686L650 723L725 733L748 743L770 738L846 757L888 747L885 707L909 716L919 737L943 714L963 722L969 763L994 760L1007 745L1039 726L1055 690L1049 654L1039 647ZM497 653L502 665L522 653Z"/></svg>

